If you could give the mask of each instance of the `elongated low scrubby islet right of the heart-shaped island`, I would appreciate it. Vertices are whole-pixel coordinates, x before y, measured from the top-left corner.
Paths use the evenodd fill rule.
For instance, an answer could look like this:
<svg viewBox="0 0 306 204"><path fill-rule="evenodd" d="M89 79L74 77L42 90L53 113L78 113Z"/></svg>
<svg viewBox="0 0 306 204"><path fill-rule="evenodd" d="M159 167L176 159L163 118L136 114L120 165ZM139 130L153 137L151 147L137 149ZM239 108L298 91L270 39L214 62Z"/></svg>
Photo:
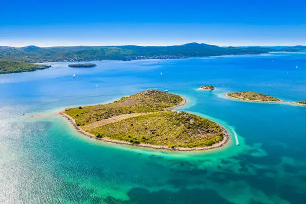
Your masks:
<svg viewBox="0 0 306 204"><path fill-rule="evenodd" d="M226 93L225 94L228 97L238 99L238 100L251 100L251 101L261 101L261 102L280 102L281 100L270 96L270 95L265 95L263 93L256 93L256 92L251 92L251 91L246 91L246 92L231 92L231 93Z"/></svg>

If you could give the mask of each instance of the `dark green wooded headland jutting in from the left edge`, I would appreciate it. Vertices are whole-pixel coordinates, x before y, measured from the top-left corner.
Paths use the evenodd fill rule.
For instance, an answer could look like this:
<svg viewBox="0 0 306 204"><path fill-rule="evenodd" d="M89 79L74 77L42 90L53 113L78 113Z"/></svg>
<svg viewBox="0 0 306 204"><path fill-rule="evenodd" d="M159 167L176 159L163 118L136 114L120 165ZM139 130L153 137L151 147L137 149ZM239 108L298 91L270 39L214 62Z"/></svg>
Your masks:
<svg viewBox="0 0 306 204"><path fill-rule="evenodd" d="M33 64L20 61L8 61L0 60L0 74L1 73L14 73L14 72L24 72L24 71L35 71L39 69L45 69L50 67L50 65L45 64Z"/></svg>

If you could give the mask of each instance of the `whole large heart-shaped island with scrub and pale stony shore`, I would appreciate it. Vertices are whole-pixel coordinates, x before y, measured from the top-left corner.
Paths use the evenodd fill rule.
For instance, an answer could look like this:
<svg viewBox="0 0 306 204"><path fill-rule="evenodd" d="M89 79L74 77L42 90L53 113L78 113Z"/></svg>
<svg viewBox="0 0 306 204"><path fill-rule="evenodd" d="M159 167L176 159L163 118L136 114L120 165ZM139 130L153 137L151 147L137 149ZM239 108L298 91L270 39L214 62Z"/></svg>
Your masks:
<svg viewBox="0 0 306 204"><path fill-rule="evenodd" d="M74 127L96 139L168 150L204 150L228 138L219 124L184 111L170 110L186 102L176 94L148 89L99 105L60 112Z"/></svg>

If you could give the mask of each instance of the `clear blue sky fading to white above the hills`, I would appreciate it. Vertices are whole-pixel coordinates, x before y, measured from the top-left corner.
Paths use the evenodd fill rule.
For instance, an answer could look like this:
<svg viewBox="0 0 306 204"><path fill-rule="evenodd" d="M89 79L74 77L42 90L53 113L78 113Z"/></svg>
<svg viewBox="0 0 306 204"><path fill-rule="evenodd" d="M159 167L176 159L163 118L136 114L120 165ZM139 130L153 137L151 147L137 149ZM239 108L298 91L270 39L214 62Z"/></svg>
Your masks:
<svg viewBox="0 0 306 204"><path fill-rule="evenodd" d="M0 45L306 45L306 0L6 0Z"/></svg>

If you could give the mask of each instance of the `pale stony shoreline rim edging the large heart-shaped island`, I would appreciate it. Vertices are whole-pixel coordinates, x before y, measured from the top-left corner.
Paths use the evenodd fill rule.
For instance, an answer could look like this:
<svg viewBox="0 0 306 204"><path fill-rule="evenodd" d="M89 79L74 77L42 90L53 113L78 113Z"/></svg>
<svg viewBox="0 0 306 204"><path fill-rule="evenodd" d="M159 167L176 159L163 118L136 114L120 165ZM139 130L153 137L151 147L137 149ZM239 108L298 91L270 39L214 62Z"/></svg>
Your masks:
<svg viewBox="0 0 306 204"><path fill-rule="evenodd" d="M180 96L180 97L182 97L182 96ZM184 105L187 102L187 99L184 98L184 97L182 97L182 98L183 98L183 101L180 104L172 106L172 107L165 108L165 110L169 110L169 109L172 109L172 108ZM68 119L70 121L70 123L73 125L73 127L78 132L80 132L81 134L83 134L85 136L92 137L92 138L99 139L99 140L106 141L106 142L112 142L112 143L117 143L117 144L127 144L127 145L147 147L147 148L154 148L154 149L163 149L163 150L172 150L172 151L199 151L199 150L207 150L207 149L218 148L218 147L223 146L228 141L228 137L229 137L227 130L222 125L217 123L222 128L224 136L223 136L223 139L220 142L212 144L211 146L203 146L203 147L176 147L176 148L171 148L171 147L168 147L168 146L158 146L158 145L144 144L144 143L136 144L136 143L131 143L131 142L128 142L128 141L109 139L109 138L105 138L105 137L100 137L100 138L96 137L94 134L86 132L80 126L77 126L76 123L75 123L75 120L71 116L69 116L66 113L64 113L64 110L61 110L60 112L58 112L58 114L63 116L63 117L65 117L66 119Z"/></svg>

